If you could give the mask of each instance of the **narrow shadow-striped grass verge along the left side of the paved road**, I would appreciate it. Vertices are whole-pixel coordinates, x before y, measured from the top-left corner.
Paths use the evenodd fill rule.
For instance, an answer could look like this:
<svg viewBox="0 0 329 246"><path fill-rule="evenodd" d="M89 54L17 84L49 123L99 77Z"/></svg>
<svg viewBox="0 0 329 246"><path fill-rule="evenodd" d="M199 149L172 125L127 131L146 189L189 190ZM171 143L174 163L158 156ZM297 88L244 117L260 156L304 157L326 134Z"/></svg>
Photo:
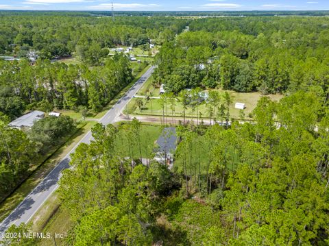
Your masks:
<svg viewBox="0 0 329 246"><path fill-rule="evenodd" d="M82 137L95 125L95 122L80 123L77 125L77 131L66 140L45 162L33 171L21 186L19 186L12 195L0 204L0 221L3 221L16 206L34 189L34 187L66 156L73 147L79 143Z"/></svg>

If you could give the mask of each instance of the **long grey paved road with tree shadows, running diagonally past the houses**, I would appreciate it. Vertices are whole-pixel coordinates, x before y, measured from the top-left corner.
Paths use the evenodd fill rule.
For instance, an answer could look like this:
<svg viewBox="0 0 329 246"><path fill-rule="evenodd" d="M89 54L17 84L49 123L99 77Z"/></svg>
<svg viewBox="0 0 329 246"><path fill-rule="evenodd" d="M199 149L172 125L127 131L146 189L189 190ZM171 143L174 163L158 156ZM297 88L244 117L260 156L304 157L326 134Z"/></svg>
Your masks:
<svg viewBox="0 0 329 246"><path fill-rule="evenodd" d="M144 75L138 79L138 81L130 88L130 90L125 93L123 97L110 109L108 112L99 120L99 123L103 125L108 125L114 123L119 119L121 112L123 112L127 103L134 97L137 91L143 86L147 79L151 76L154 71L154 66L151 66ZM27 197L19 204L19 206L12 211L12 213L0 224L0 232L5 232L5 230L10 227L10 225L19 225L22 222L27 223L33 217L33 215L38 211L42 204L47 201L50 195L58 188L58 180L60 180L61 171L63 169L69 168L70 154L75 151L80 143L90 143L92 140L91 132L88 132L82 140L80 140L75 147L70 151L70 153L65 156L65 158L58 163L58 165L42 180L32 193L29 193Z"/></svg>

